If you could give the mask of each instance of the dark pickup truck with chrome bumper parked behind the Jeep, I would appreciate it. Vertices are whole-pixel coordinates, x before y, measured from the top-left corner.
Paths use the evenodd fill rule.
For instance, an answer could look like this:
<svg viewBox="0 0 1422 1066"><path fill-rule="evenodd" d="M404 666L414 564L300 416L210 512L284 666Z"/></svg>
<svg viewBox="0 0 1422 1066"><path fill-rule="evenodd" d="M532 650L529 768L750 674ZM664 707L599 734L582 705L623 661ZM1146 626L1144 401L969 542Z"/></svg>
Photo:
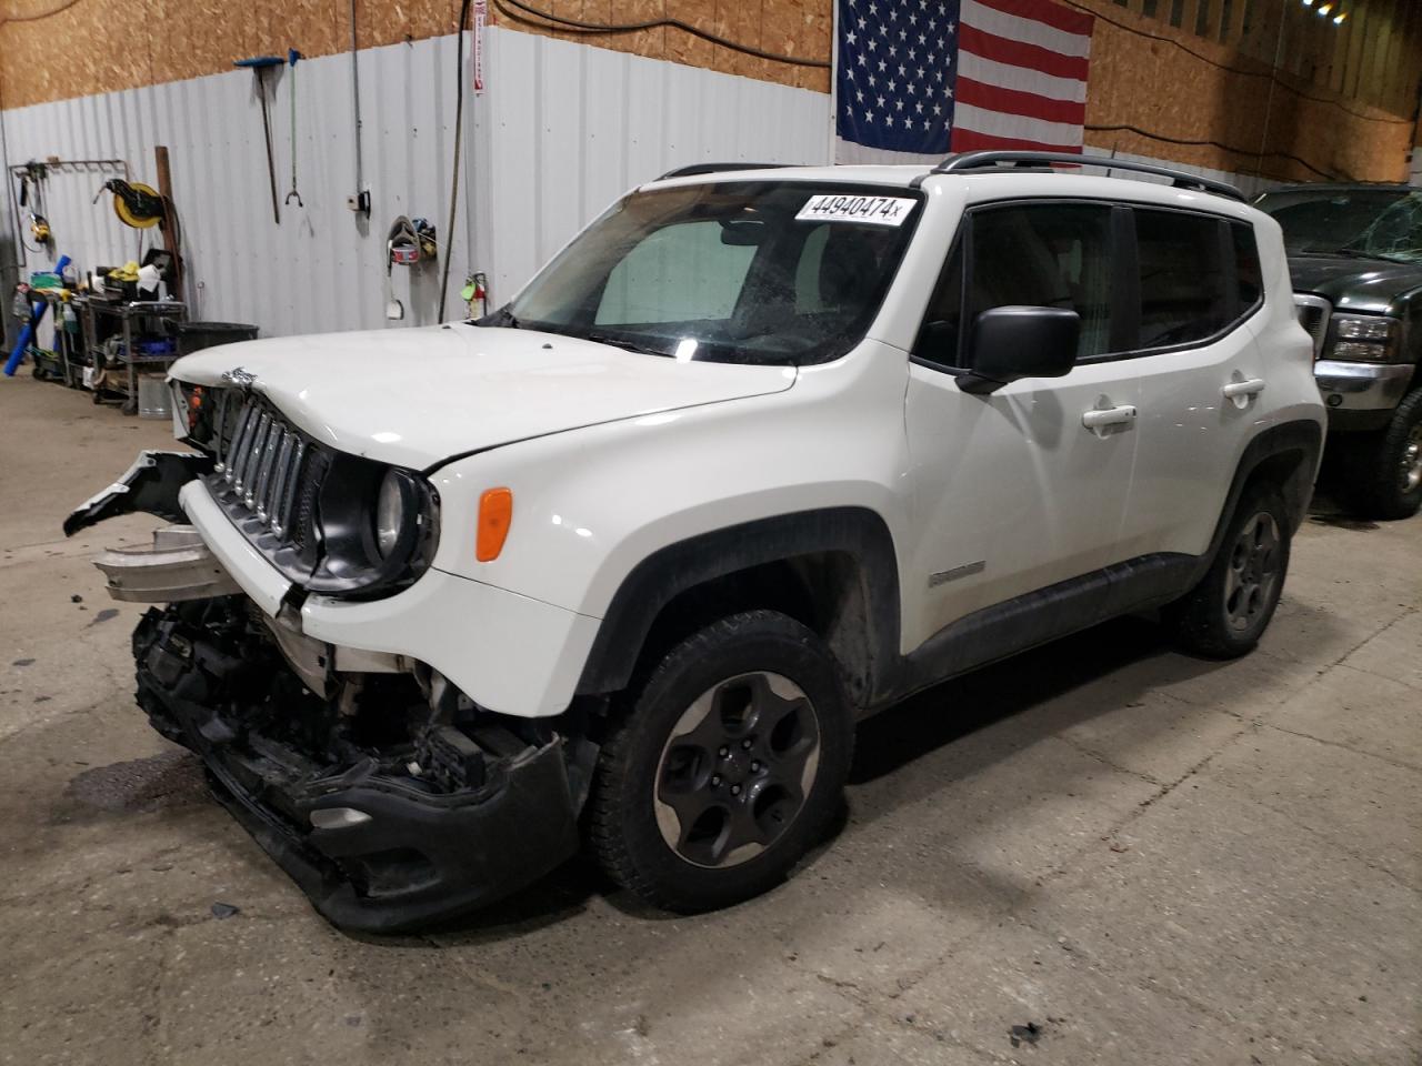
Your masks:
<svg viewBox="0 0 1422 1066"><path fill-rule="evenodd" d="M1422 506L1422 189L1290 185L1256 200L1284 227L1300 320L1352 503Z"/></svg>

